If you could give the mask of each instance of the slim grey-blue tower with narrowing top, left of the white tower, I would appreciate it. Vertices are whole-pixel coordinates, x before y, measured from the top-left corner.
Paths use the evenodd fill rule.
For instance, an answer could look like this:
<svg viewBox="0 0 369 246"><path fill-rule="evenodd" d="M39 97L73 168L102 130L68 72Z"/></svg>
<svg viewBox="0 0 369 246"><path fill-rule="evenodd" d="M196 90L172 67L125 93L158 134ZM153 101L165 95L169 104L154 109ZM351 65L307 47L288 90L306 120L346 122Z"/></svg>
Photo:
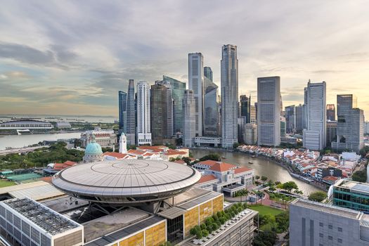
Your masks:
<svg viewBox="0 0 369 246"><path fill-rule="evenodd" d="M134 80L129 79L127 93L127 143L136 144L136 96L134 93Z"/></svg>

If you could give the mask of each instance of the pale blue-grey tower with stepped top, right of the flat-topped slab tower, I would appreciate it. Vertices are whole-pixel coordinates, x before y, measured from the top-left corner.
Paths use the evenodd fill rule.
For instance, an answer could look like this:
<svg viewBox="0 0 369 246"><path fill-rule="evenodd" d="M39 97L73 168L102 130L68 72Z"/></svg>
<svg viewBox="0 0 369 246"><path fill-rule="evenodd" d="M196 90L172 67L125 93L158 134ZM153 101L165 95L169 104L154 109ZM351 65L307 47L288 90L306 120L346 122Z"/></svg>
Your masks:
<svg viewBox="0 0 369 246"><path fill-rule="evenodd" d="M323 150L325 148L327 115L325 114L325 82L311 83L305 88L306 129L303 132L304 148Z"/></svg>

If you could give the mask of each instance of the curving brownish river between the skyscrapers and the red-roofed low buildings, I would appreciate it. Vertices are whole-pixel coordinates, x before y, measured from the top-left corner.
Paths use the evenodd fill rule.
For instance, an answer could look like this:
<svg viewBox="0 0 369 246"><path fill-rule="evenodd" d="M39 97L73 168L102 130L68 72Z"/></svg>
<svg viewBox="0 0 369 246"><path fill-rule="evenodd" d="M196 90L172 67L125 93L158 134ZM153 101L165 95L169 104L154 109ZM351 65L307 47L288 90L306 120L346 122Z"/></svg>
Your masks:
<svg viewBox="0 0 369 246"><path fill-rule="evenodd" d="M226 157L226 159L223 159L223 162L252 168L254 169L255 175L266 176L268 179L280 181L282 183L294 181L297 183L297 186L299 186L299 189L302 190L304 195L309 195L310 193L318 190L318 188L311 186L309 183L305 183L290 176L286 169L275 162L268 161L264 157L252 158L250 155L246 155L245 153L228 152L221 149L191 149L191 153L193 153L193 157L195 158L203 157L209 153L217 153L221 157ZM249 161L252 161L253 164L249 164Z"/></svg>

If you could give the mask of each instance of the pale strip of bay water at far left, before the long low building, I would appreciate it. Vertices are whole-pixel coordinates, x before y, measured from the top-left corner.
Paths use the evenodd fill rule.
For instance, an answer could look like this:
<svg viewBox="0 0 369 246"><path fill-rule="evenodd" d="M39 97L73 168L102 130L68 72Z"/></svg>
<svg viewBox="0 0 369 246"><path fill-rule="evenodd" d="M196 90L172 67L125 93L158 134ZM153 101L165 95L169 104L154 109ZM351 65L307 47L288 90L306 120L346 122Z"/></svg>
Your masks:
<svg viewBox="0 0 369 246"><path fill-rule="evenodd" d="M65 133L65 134L30 134L30 135L6 135L0 136L0 150L5 150L6 147L22 148L44 140L55 141L58 139L80 138L80 132Z"/></svg>

